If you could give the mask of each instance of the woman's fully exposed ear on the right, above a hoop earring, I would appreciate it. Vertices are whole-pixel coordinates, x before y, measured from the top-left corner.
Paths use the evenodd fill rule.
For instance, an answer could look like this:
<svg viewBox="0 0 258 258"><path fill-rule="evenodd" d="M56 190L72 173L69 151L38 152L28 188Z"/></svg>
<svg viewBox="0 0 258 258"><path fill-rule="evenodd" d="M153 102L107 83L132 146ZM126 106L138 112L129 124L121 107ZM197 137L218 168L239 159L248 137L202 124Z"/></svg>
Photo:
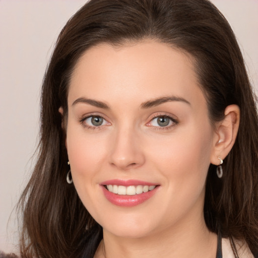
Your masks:
<svg viewBox="0 0 258 258"><path fill-rule="evenodd" d="M225 159L232 149L239 127L240 109L237 105L227 106L224 114L224 119L216 124L214 148L211 153L211 163L214 165L219 165L218 157Z"/></svg>

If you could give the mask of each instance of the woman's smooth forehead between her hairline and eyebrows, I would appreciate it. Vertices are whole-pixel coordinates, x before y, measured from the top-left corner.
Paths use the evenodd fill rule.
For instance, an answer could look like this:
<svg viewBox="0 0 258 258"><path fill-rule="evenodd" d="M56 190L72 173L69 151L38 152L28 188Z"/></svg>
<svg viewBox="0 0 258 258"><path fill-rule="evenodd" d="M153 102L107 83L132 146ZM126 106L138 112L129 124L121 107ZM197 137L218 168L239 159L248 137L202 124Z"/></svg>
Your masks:
<svg viewBox="0 0 258 258"><path fill-rule="evenodd" d="M97 97L102 101L143 102L173 94L198 102L204 96L193 63L193 58L179 49L151 40L119 47L99 44L78 60L68 101Z"/></svg>

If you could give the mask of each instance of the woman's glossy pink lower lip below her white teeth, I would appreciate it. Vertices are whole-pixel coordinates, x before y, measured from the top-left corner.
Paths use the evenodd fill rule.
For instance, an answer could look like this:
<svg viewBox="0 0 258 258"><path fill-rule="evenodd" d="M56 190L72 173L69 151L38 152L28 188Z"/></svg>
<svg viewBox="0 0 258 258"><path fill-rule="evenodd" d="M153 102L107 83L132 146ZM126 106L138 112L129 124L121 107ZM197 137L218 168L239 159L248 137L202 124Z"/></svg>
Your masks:
<svg viewBox="0 0 258 258"><path fill-rule="evenodd" d="M133 207L137 206L139 204L144 203L148 199L150 199L152 196L155 195L158 186L156 186L153 190L140 193L139 195L134 196L127 196L127 195L117 195L116 193L108 191L104 185L101 185L103 189L104 196L106 199L116 205L116 206L122 206L122 207Z"/></svg>

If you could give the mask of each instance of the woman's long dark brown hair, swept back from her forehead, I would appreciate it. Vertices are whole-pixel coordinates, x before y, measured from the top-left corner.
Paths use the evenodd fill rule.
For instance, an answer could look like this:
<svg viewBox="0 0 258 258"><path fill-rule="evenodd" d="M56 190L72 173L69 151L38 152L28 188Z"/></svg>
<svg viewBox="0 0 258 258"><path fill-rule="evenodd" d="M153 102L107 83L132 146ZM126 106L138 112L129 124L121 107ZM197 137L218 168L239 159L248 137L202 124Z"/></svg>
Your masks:
<svg viewBox="0 0 258 258"><path fill-rule="evenodd" d="M246 241L258 254L257 110L243 57L223 15L207 0L92 0L62 29L41 96L38 160L20 200L22 257L93 257L102 228L66 182L65 132L70 76L89 47L153 39L191 55L211 122L230 104L240 107L236 142L223 163L210 165L204 216L208 228Z"/></svg>

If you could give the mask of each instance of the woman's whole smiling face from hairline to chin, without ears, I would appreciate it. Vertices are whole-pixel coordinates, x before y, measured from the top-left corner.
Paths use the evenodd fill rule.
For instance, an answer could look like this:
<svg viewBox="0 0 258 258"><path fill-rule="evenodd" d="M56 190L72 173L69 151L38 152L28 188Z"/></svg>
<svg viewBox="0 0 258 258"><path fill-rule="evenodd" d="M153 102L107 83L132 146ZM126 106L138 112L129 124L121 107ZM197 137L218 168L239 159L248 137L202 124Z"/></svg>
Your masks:
<svg viewBox="0 0 258 258"><path fill-rule="evenodd" d="M155 41L94 46L77 63L68 105L73 181L105 232L204 224L215 132L190 57Z"/></svg>

